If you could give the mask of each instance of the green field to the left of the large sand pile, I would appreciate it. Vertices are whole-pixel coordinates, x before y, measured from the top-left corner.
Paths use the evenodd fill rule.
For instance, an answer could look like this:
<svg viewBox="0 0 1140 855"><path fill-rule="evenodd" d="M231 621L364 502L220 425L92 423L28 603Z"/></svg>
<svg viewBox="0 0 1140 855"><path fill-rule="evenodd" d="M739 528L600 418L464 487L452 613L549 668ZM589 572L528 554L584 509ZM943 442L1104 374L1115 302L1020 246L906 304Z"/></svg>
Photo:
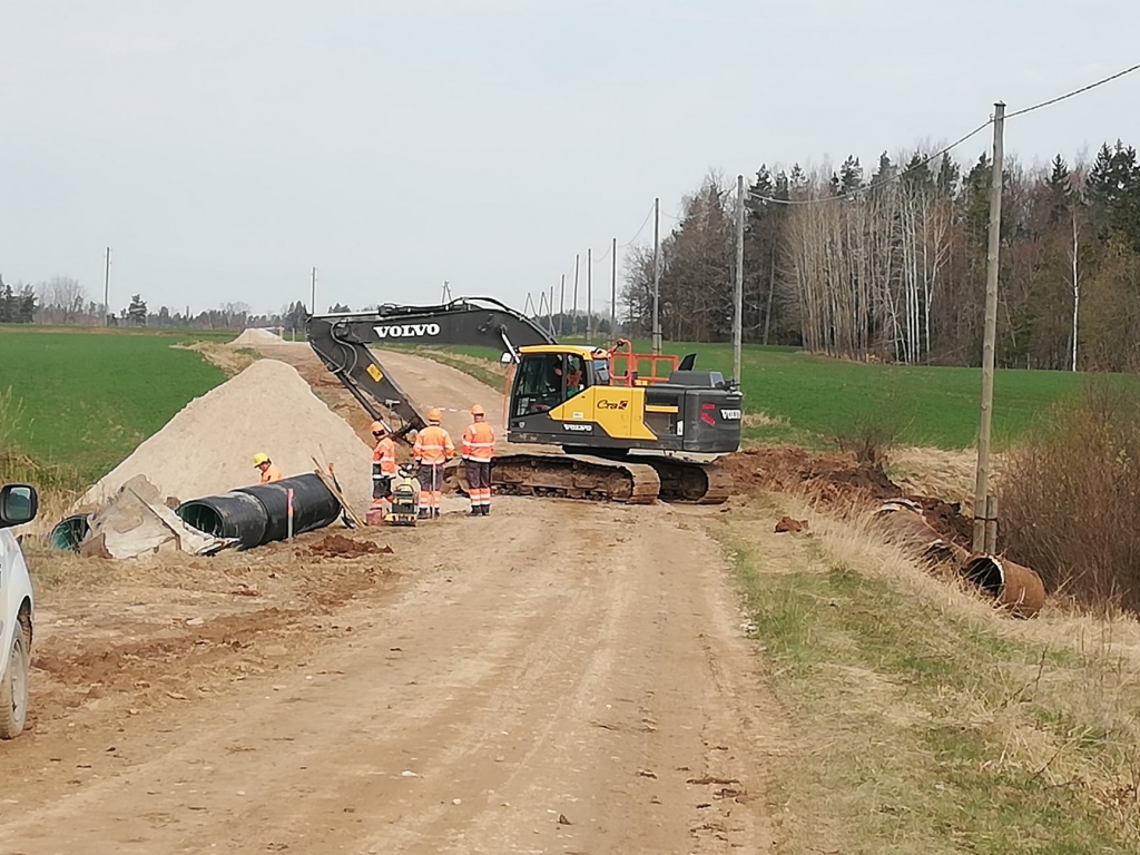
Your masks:
<svg viewBox="0 0 1140 855"><path fill-rule="evenodd" d="M93 482L225 380L198 353L170 347L204 337L234 333L0 327L0 442L8 446L0 451Z"/></svg>

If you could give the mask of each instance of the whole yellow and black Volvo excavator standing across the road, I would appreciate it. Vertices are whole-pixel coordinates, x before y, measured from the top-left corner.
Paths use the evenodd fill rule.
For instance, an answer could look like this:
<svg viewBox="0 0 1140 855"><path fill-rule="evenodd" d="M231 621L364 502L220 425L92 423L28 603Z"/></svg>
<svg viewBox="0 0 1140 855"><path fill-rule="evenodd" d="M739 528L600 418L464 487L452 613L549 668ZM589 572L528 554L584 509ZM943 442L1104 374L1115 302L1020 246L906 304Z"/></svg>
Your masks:
<svg viewBox="0 0 1140 855"><path fill-rule="evenodd" d="M732 490L715 457L740 447L743 396L719 372L694 370L695 355L640 356L626 341L609 349L560 344L490 298L314 315L307 335L369 415L405 441L426 422L372 345L499 350L510 366L508 442L551 447L497 455L500 494L717 504ZM389 423L393 416L400 424Z"/></svg>

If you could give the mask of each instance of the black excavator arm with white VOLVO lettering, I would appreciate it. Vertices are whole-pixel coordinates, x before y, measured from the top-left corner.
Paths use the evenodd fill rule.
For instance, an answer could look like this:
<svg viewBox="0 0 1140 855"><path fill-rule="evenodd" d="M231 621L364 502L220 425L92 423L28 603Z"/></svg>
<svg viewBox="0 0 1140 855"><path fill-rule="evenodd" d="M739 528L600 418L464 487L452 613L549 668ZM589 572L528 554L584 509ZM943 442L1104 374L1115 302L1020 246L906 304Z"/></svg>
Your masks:
<svg viewBox="0 0 1140 855"><path fill-rule="evenodd" d="M426 421L376 359L369 344L439 344L498 348L518 361L518 348L555 340L523 315L491 298L463 298L441 306L382 306L375 311L312 315L307 337L325 366L390 432L405 441ZM402 425L391 430L376 405Z"/></svg>

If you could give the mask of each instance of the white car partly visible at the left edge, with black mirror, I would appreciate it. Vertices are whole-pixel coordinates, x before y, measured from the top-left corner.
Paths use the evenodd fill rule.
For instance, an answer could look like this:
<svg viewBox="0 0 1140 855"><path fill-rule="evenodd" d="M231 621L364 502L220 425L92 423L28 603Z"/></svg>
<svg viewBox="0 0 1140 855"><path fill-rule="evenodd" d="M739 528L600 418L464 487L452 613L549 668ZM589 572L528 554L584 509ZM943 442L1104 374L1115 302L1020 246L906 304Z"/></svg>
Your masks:
<svg viewBox="0 0 1140 855"><path fill-rule="evenodd" d="M0 739L24 730L34 614L24 552L7 529L35 519L38 504L35 489L27 484L0 488Z"/></svg>

